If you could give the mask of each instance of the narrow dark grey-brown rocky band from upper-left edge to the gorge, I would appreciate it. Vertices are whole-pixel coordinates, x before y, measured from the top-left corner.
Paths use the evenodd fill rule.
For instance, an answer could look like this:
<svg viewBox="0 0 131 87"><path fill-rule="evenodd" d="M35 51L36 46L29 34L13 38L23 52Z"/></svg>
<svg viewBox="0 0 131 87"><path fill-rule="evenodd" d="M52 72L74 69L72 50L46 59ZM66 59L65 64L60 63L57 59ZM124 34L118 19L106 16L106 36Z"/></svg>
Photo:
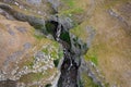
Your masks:
<svg viewBox="0 0 131 87"><path fill-rule="evenodd" d="M9 15L12 15L15 20L23 21L23 22L28 22L35 28L45 30L44 18L39 18L39 17L36 17L36 16L20 13L8 4L0 4L0 8L2 10L4 10ZM7 15L7 17L8 17L8 15Z"/></svg>

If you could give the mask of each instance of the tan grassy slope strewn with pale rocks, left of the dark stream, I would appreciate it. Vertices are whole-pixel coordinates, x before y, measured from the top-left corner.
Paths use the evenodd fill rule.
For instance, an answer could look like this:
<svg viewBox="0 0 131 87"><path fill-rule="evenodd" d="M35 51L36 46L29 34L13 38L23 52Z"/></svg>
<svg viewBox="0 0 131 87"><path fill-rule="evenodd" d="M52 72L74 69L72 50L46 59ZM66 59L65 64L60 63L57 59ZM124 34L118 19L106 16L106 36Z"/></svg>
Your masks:
<svg viewBox="0 0 131 87"><path fill-rule="evenodd" d="M35 32L28 24L34 20L21 15L22 17L15 21L16 17L5 9L2 5L2 15L0 14L0 86L37 87L52 84L59 74L55 60L62 58L62 48ZM4 17L3 13L14 16L13 21L7 15ZM20 18L26 22L20 22ZM38 18L35 24L37 23L43 22Z"/></svg>

